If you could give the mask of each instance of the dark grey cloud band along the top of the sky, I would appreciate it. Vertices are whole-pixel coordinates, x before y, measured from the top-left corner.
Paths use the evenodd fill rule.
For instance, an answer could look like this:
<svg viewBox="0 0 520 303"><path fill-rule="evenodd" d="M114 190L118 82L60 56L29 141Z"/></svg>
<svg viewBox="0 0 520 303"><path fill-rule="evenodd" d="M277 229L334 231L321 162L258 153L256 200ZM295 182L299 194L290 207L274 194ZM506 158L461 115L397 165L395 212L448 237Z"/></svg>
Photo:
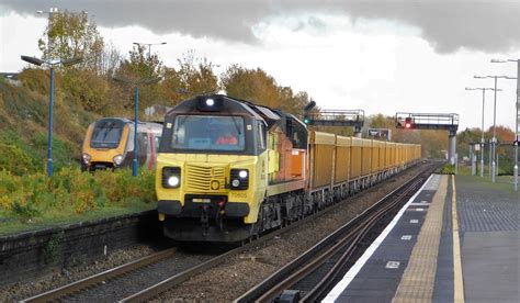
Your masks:
<svg viewBox="0 0 520 303"><path fill-rule="evenodd" d="M352 20L383 19L417 26L439 53L461 47L507 52L520 45L520 1L508 0L0 0L8 9L33 14L59 7L87 10L102 26L138 24L156 33L180 32L195 37L256 43L252 25L267 16L305 13L346 14ZM320 29L319 19L302 26Z"/></svg>

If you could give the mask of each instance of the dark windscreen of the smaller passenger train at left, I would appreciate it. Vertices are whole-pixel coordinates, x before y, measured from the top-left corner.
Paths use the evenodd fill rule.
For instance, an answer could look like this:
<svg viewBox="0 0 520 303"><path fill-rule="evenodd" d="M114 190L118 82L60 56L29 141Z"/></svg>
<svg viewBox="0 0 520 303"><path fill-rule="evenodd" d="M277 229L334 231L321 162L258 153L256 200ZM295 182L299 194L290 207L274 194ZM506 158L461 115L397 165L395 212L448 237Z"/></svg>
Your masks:
<svg viewBox="0 0 520 303"><path fill-rule="evenodd" d="M124 126L125 122L116 119L103 119L95 122L90 146L92 148L116 148L120 145Z"/></svg>

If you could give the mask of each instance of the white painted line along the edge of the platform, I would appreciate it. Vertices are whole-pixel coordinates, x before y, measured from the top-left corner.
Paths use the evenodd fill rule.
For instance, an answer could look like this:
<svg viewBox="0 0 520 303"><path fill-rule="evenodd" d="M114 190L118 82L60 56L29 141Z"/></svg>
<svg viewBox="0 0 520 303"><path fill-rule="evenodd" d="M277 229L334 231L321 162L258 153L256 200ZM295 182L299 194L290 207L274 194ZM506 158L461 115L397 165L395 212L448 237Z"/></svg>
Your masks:
<svg viewBox="0 0 520 303"><path fill-rule="evenodd" d="M355 278L355 276L360 272L360 270L363 268L363 266L366 263L366 261L372 257L372 255L375 252L377 247L383 243L383 240L386 238L386 236L392 232L394 226L397 224L399 218L403 216L405 213L406 209L408 205L419 195L419 193L422 191L422 189L428 184L430 179L433 177L433 175L428 178L428 180L422 184L422 187L408 200L408 202L399 210L397 215L392 220L392 222L386 226L386 228L381 233L381 235L372 243L372 245L366 248L364 251L363 256L361 256L355 263L350 268L350 270L344 274L343 279L336 284L336 287L327 294L327 296L321 301L321 302L335 302L336 299L349 287L350 282Z"/></svg>

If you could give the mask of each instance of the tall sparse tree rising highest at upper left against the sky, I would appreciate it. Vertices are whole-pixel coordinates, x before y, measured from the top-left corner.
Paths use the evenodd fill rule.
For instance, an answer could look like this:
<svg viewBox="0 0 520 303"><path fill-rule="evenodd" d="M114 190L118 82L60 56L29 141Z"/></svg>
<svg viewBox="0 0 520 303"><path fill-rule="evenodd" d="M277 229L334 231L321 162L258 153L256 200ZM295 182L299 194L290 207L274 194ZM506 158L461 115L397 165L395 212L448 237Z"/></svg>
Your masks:
<svg viewBox="0 0 520 303"><path fill-rule="evenodd" d="M100 74L104 42L94 23L89 22L84 12L54 12L49 16L44 35L38 40L38 48L44 59L74 57L82 58L78 69Z"/></svg>

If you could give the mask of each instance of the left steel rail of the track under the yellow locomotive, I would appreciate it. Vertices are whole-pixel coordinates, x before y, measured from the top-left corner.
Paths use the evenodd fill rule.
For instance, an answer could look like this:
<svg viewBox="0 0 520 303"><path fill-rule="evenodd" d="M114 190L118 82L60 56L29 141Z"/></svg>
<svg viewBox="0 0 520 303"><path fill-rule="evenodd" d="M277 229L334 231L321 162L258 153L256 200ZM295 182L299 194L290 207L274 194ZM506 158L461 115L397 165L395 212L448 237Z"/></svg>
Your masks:
<svg viewBox="0 0 520 303"><path fill-rule="evenodd" d="M135 271L139 268L146 267L148 265L163 260L174 254L177 248L168 248L150 256L139 258L135 261L121 265L118 267L105 270L103 272L87 277L79 281L63 285L60 288L24 299L21 302L48 302L53 300L59 300L64 296L67 296L71 293L79 292L81 290L88 289L92 285L101 283L103 281L113 279L118 276L124 276L131 271Z"/></svg>

